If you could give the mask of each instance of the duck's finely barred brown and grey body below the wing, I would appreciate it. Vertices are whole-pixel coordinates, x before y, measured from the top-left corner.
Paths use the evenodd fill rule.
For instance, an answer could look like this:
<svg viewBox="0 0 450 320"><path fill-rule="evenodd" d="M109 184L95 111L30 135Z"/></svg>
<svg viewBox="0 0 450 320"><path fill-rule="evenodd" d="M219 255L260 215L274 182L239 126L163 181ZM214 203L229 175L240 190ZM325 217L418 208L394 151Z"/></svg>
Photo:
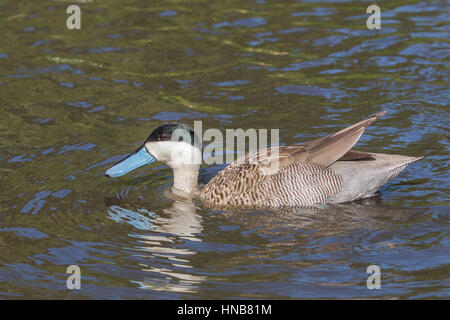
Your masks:
<svg viewBox="0 0 450 320"><path fill-rule="evenodd" d="M408 164L419 158L367 153L367 160L338 160L329 167L296 162L274 174L239 164L220 171L200 191L213 206L310 206L372 197Z"/></svg>

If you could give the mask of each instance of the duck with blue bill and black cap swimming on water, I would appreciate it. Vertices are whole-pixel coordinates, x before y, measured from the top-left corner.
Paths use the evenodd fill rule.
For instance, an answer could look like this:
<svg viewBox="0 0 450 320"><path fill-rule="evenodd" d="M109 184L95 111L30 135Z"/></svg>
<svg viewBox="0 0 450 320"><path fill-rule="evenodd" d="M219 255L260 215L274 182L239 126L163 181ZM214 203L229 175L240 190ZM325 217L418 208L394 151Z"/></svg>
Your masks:
<svg viewBox="0 0 450 320"><path fill-rule="evenodd" d="M386 111L336 133L289 146L250 151L217 173L202 188L202 150L194 130L167 123L152 131L136 151L109 168L120 177L160 161L173 171L172 191L195 196L211 207L304 207L373 197L409 164L422 157L353 149L364 131Z"/></svg>

